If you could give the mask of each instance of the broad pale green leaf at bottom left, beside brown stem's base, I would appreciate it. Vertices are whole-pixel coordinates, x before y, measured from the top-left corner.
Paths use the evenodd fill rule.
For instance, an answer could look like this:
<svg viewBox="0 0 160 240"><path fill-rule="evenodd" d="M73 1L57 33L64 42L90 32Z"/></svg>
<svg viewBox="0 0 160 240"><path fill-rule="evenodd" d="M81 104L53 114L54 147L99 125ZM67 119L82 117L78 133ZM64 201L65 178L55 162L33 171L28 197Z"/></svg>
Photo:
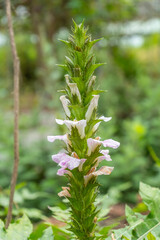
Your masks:
<svg viewBox="0 0 160 240"><path fill-rule="evenodd" d="M24 215L17 222L10 224L6 232L6 240L27 240L32 232L32 224Z"/></svg>

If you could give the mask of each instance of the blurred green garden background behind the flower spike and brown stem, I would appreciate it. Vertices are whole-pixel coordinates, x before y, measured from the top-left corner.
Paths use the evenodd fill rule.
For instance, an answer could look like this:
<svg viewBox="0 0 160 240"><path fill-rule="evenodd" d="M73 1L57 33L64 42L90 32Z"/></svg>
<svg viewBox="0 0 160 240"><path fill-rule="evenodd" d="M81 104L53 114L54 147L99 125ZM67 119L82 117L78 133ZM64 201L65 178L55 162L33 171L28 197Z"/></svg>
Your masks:
<svg viewBox="0 0 160 240"><path fill-rule="evenodd" d="M115 167L100 177L101 193L112 204L137 202L139 181L160 187L160 0L13 0L13 23L21 61L20 166L15 214L30 209L38 218L57 196L65 178L56 175L51 155L62 145L47 135L64 133L57 90L65 86L56 63L64 63L72 18L85 19L96 45L101 94L99 114L112 116L99 135L121 146L111 152ZM4 1L0 1L0 215L8 206L13 163L13 69ZM31 211L31 209L33 211ZM23 211L22 210L22 211Z"/></svg>

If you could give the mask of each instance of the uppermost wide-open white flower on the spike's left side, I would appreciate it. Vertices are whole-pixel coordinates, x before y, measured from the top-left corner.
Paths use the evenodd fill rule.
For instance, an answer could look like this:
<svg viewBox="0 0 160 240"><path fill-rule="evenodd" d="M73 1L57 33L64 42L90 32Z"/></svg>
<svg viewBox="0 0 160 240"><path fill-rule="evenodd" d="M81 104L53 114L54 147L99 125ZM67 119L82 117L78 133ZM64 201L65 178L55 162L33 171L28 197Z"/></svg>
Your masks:
<svg viewBox="0 0 160 240"><path fill-rule="evenodd" d="M81 139L85 137L85 127L86 127L86 120L85 119L82 119L80 121L56 119L56 123L58 123L60 125L65 124L70 131L72 130L72 127L73 128L76 127L78 132L79 132L79 135L80 135Z"/></svg>

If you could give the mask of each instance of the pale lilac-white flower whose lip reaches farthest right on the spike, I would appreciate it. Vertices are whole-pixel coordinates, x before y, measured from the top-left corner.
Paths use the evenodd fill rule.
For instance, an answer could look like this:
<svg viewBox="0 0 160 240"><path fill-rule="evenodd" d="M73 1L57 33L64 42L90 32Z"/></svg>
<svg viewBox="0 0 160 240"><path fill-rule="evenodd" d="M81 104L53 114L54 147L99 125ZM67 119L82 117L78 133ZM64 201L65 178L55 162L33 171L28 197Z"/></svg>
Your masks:
<svg viewBox="0 0 160 240"><path fill-rule="evenodd" d="M99 138L100 139L100 138ZM107 139L104 141L100 141L97 139L93 139L93 138L88 138L87 139L87 145L88 145L88 156L91 155L92 152L95 151L95 149L100 146L103 145L104 147L111 147L111 148L118 148L120 146L120 143L117 141L114 141L112 139Z"/></svg>

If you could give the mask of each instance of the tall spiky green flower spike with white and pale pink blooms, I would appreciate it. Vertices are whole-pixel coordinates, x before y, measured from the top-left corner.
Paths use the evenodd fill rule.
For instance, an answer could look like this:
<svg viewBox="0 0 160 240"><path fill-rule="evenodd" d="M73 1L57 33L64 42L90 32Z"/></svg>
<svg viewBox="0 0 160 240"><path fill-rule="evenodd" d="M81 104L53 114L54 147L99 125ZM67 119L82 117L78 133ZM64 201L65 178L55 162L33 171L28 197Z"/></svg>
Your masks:
<svg viewBox="0 0 160 240"><path fill-rule="evenodd" d="M68 178L68 185L58 194L69 200L71 208L70 231L76 239L97 239L95 230L98 210L94 202L98 194L99 175L109 175L113 167L98 168L103 160L111 161L108 149L118 148L119 142L112 139L100 140L96 131L102 121L111 117L98 116L97 106L100 90L94 89L94 71L103 63L95 63L93 45L100 39L91 40L82 22L74 28L66 44L66 64L59 65L67 72L66 89L60 97L66 119L56 119L57 124L66 125L68 132L62 136L48 136L48 141L62 140L66 144L63 152L52 155L60 166L57 174Z"/></svg>

